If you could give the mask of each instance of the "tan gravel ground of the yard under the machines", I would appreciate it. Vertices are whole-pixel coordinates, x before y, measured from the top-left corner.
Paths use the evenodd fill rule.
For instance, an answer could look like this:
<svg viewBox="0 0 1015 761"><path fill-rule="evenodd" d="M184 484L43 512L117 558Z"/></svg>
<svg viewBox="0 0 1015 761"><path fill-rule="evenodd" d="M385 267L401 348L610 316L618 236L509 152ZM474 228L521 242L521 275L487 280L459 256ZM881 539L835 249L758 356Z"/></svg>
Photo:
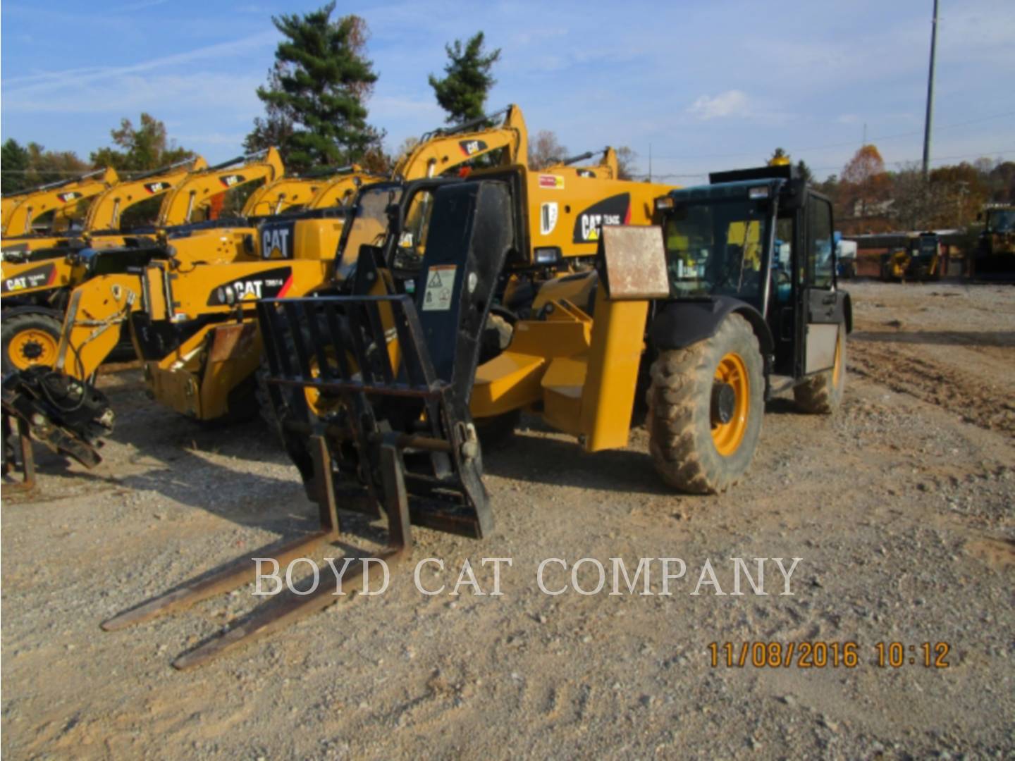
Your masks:
<svg viewBox="0 0 1015 761"><path fill-rule="evenodd" d="M252 610L253 586L120 632L99 621L313 528L316 508L262 427L202 428L148 403L136 373L105 376L120 423L103 465L41 457L38 493L4 500L3 753L1011 758L1015 290L851 290L843 408L771 403L730 493L668 492L642 429L590 456L528 420L486 457L491 537L414 532L415 559L446 562L427 584L450 589L468 558L490 592L482 558L514 558L502 596L426 597L410 564L384 595L189 672L170 664ZM350 542L369 538L349 526ZM687 573L669 597L609 596L609 578L554 597L536 584L548 557L607 571L679 557ZM765 597L689 594L706 559L731 592L731 557L802 558L794 595L771 561ZM857 642L858 663L713 666L709 643L738 660L755 641ZM892 641L918 663L906 649L879 667L876 643ZM947 669L920 665L924 642L948 643Z"/></svg>

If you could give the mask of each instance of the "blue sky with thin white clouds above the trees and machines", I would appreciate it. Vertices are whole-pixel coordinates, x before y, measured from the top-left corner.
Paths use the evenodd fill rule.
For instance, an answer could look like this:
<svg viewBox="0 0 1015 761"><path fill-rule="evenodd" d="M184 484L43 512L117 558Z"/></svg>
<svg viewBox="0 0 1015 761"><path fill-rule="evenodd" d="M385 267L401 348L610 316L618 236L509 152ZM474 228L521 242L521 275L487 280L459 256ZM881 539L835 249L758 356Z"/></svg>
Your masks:
<svg viewBox="0 0 1015 761"><path fill-rule="evenodd" d="M321 0L79 0L0 5L0 139L82 158L123 117L162 120L209 162L242 153L263 113L279 13ZM394 150L441 126L427 74L477 30L501 50L488 106L571 153L626 145L689 185L776 146L819 178L867 141L919 161L932 0L341 2L369 27L369 121ZM941 0L932 165L1015 160L1015 2Z"/></svg>

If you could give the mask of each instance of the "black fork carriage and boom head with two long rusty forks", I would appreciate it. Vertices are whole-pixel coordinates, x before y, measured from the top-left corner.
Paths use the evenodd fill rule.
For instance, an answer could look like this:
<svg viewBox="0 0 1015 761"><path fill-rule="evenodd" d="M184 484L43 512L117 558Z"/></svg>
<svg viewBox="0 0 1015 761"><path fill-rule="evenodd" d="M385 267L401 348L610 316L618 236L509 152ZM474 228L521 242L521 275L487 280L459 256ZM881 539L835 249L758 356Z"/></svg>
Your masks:
<svg viewBox="0 0 1015 761"><path fill-rule="evenodd" d="M397 294L258 302L271 404L320 514L318 531L258 553L274 557L279 569L339 539L339 507L387 518L387 548L379 557L389 564L410 555L411 524L475 538L492 529L469 394L514 240L510 208L500 183L442 188L416 301ZM373 252L364 255L366 266ZM256 556L192 579L103 628L147 621L253 581ZM352 580L346 574L343 585ZM328 584L308 595L281 593L174 666L206 663L347 599Z"/></svg>

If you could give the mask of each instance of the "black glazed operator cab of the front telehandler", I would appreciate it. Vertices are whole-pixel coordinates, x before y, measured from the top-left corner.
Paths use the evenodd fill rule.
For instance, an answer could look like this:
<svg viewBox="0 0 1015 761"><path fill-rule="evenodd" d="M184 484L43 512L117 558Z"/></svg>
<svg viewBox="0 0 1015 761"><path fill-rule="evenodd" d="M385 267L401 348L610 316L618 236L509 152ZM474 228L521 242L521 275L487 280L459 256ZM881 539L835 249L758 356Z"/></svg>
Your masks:
<svg viewBox="0 0 1015 761"><path fill-rule="evenodd" d="M835 286L831 202L790 165L716 172L657 199L672 301L740 312L766 372L801 378L831 366L849 298ZM843 314L844 313L844 314Z"/></svg>

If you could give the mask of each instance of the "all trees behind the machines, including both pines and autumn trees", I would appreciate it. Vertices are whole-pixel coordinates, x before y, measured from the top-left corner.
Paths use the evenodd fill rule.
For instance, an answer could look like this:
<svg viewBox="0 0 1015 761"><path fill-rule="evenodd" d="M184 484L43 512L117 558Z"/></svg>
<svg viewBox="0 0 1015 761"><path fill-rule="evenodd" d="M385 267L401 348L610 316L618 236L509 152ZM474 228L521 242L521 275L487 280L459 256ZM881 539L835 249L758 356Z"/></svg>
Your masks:
<svg viewBox="0 0 1015 761"><path fill-rule="evenodd" d="M255 119L244 147L249 152L277 147L287 171L294 175L351 163L383 174L416 139L406 139L393 154L385 151L385 131L368 121L367 101L378 81L366 50L369 28L359 16L334 17L334 12L335 2L329 2L310 13L272 16L282 40L265 84L257 89L264 115ZM479 119L496 82L492 69L500 50L488 50L482 31L456 40L445 50L448 60L443 75L430 74L427 82L446 121L457 125ZM142 114L137 126L129 119L121 120L111 137L113 145L92 151L87 161L72 151L47 150L33 142L22 146L8 139L0 146L2 192L63 180L98 166L113 166L129 176L194 155L171 140L165 125L149 114ZM567 154L549 130L530 138L527 158L533 168L543 168ZM626 146L618 147L617 154L620 177L633 179L637 155ZM770 158L790 161L782 148ZM803 160L797 167L814 180ZM841 174L817 186L832 199L836 219L847 232L962 226L975 218L985 202L1015 202L1015 162L963 161L935 168L925 182L916 165L887 170L878 149L865 145Z"/></svg>

